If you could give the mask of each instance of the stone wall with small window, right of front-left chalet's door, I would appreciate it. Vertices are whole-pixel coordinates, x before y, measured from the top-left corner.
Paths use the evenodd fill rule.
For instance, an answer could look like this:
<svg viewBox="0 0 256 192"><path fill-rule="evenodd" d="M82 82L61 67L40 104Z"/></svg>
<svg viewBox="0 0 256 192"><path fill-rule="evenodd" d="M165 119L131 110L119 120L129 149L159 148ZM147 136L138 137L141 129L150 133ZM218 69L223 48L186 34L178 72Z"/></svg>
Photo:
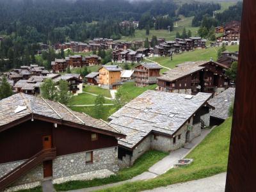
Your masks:
<svg viewBox="0 0 256 192"><path fill-rule="evenodd" d="M118 171L117 147L93 150L93 163L85 163L86 152L59 156L52 161L52 177L54 179L108 169Z"/></svg>

